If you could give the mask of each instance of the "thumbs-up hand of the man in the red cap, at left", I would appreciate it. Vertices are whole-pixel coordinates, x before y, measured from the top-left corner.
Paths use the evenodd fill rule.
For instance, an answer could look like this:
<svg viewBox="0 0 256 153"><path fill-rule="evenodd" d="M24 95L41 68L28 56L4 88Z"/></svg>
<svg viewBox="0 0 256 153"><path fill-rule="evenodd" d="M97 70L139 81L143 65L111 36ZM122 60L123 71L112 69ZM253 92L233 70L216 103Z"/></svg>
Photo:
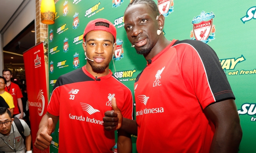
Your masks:
<svg viewBox="0 0 256 153"><path fill-rule="evenodd" d="M50 146L52 142L52 137L50 136L53 130L52 126L53 126L52 118L48 118L47 126L41 127L37 132L37 138L34 144L35 147L37 147L40 150L45 150Z"/></svg>

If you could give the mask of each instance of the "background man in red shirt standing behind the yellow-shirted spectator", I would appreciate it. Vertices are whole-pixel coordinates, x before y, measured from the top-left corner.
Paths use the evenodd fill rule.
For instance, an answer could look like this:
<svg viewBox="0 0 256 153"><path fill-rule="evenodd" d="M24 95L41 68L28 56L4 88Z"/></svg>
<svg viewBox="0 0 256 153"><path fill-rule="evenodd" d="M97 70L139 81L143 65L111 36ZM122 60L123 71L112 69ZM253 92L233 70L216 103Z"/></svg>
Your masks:
<svg viewBox="0 0 256 153"><path fill-rule="evenodd" d="M14 102L15 107L14 107L14 113L13 113L14 115L12 115L12 117L14 117L15 115L18 115L20 113L20 116L18 118L23 119L23 105L22 105L22 100L21 100L21 98L23 96L22 96L19 86L15 83L11 82L12 71L9 69L3 70L3 77L7 81L6 87L4 88L4 90L6 92L8 92L9 94L11 94L13 97L13 102Z"/></svg>

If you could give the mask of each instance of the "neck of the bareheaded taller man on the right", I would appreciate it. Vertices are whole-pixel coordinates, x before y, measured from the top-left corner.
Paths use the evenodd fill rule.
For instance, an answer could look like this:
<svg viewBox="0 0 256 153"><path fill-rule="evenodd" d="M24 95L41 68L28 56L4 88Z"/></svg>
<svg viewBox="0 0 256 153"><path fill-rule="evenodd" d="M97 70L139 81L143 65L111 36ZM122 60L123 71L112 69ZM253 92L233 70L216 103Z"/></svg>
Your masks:
<svg viewBox="0 0 256 153"><path fill-rule="evenodd" d="M169 44L170 41L167 40L165 36L160 37L152 50L147 55L144 55L144 58L146 60L154 58L155 55L165 49L165 47L167 47Z"/></svg>

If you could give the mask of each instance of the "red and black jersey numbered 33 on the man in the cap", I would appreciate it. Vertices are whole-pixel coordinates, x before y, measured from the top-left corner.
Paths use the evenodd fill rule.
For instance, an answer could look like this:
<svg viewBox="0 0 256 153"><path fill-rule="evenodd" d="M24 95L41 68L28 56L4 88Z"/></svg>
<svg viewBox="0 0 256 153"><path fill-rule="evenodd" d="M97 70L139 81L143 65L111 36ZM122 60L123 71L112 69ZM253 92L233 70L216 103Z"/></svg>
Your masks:
<svg viewBox="0 0 256 153"><path fill-rule="evenodd" d="M113 97L123 116L133 118L131 90L111 71L98 79L83 67L61 75L55 83L47 110L60 117L60 153L113 153L114 132L104 130L102 120L105 111L113 110Z"/></svg>

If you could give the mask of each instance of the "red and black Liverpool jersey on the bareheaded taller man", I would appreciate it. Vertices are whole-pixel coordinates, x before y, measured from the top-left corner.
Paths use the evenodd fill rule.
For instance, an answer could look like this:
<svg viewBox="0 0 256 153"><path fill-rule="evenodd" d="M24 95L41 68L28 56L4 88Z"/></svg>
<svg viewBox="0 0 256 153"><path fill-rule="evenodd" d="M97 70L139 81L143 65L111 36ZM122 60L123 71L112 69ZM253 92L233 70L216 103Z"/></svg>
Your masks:
<svg viewBox="0 0 256 153"><path fill-rule="evenodd" d="M203 110L234 98L211 47L173 40L135 82L138 152L209 152L215 127Z"/></svg>

